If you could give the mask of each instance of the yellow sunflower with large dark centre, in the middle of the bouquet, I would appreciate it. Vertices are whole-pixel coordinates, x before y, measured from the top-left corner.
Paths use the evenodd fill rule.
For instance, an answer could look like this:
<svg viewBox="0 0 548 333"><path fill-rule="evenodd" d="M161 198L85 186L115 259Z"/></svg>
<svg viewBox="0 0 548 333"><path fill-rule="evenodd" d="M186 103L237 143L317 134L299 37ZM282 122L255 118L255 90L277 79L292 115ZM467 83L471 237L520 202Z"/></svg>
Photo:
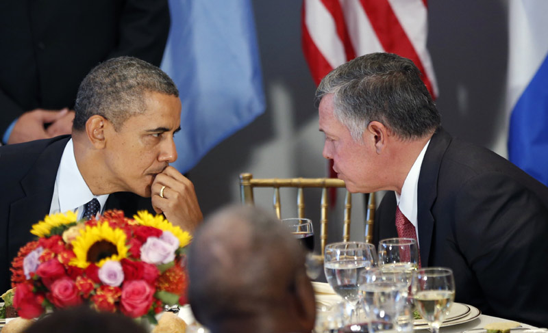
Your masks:
<svg viewBox="0 0 548 333"><path fill-rule="evenodd" d="M108 260L121 261L127 256L125 240L124 230L111 228L108 222L86 226L71 243L76 258L69 264L85 269L90 263L101 267Z"/></svg>

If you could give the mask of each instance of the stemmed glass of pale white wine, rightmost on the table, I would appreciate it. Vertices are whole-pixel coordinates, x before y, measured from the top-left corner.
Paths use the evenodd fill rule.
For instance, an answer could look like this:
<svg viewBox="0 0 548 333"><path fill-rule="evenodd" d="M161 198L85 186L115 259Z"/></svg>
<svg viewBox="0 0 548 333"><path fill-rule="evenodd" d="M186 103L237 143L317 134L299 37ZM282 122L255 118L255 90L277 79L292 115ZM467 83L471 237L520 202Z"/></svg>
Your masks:
<svg viewBox="0 0 548 333"><path fill-rule="evenodd" d="M418 269L412 278L411 292L416 310L430 330L438 333L455 299L453 271L443 267Z"/></svg>

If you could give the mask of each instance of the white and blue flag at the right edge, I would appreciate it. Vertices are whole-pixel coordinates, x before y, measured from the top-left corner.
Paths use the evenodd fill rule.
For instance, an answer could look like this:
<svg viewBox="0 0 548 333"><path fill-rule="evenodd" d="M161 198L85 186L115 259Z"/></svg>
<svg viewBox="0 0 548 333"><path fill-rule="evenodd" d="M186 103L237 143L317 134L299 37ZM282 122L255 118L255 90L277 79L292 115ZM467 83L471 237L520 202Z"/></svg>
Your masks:
<svg viewBox="0 0 548 333"><path fill-rule="evenodd" d="M508 158L548 185L548 1L510 1Z"/></svg>

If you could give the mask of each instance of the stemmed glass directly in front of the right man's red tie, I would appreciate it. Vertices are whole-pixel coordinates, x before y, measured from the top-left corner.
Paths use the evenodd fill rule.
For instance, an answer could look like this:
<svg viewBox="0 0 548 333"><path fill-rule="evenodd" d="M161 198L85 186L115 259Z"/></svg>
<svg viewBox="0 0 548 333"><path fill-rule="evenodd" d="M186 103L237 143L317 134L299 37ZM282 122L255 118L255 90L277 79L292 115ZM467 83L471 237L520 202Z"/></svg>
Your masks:
<svg viewBox="0 0 548 333"><path fill-rule="evenodd" d="M388 238L379 241L379 267L383 271L403 271L411 284L413 272L419 263L419 246L416 239Z"/></svg>

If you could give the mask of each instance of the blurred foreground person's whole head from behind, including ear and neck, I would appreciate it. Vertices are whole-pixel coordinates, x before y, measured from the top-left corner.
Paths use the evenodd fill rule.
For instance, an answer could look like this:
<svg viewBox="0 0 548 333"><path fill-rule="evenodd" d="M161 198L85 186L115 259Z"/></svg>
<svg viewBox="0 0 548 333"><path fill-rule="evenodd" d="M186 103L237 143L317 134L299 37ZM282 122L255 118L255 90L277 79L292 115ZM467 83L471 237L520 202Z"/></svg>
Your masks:
<svg viewBox="0 0 548 333"><path fill-rule="evenodd" d="M301 245L274 215L229 207L197 232L188 297L213 333L310 332L315 304Z"/></svg>

